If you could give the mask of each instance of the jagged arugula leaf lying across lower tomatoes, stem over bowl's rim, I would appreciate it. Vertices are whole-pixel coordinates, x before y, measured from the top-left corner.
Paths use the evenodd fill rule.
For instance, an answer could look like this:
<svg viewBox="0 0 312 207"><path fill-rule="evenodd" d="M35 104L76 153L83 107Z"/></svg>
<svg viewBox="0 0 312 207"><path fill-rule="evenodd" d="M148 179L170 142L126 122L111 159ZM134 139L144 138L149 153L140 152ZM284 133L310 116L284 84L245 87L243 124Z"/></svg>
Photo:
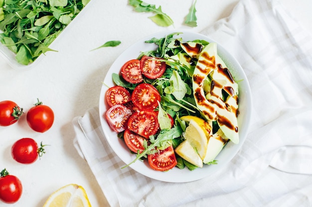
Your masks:
<svg viewBox="0 0 312 207"><path fill-rule="evenodd" d="M165 142L172 140L173 138L178 138L182 135L182 129L179 126L175 126L170 130L161 130L157 138L155 139L154 136L150 136L151 144L148 145L147 141L144 140L144 150L142 153L137 154L137 157L127 164L126 166L122 167L122 169L128 167L129 165L135 163L137 160L142 159L143 157L147 157L148 154L154 154L157 152L157 147L161 147Z"/></svg>

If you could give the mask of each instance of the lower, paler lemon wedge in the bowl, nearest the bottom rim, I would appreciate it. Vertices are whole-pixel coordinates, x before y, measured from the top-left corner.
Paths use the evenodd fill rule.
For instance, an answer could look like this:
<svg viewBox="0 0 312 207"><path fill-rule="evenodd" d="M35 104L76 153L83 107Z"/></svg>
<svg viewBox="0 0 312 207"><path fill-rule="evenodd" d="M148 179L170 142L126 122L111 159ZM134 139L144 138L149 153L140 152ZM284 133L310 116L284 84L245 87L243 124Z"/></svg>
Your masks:
<svg viewBox="0 0 312 207"><path fill-rule="evenodd" d="M186 161L192 163L197 167L202 167L203 163L200 156L197 154L195 149L190 145L187 140L180 143L174 151Z"/></svg>

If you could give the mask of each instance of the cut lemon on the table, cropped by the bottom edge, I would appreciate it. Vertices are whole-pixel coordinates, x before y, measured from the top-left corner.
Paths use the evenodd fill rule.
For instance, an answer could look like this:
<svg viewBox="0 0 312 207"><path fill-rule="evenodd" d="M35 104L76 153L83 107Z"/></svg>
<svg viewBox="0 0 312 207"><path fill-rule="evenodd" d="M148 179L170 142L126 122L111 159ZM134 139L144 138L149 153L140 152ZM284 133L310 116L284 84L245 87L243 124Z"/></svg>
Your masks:
<svg viewBox="0 0 312 207"><path fill-rule="evenodd" d="M91 207L91 204L83 187L69 184L52 193L43 207Z"/></svg>

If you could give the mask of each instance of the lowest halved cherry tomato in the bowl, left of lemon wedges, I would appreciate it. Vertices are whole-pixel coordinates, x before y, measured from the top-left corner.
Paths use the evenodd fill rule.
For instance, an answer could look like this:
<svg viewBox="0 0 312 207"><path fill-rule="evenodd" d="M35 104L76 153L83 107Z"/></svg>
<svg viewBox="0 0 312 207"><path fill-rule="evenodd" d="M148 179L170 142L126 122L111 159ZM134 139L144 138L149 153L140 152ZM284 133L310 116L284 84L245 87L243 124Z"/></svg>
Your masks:
<svg viewBox="0 0 312 207"><path fill-rule="evenodd" d="M157 171L170 170L177 164L172 145L155 154L149 154L148 160L151 168Z"/></svg>

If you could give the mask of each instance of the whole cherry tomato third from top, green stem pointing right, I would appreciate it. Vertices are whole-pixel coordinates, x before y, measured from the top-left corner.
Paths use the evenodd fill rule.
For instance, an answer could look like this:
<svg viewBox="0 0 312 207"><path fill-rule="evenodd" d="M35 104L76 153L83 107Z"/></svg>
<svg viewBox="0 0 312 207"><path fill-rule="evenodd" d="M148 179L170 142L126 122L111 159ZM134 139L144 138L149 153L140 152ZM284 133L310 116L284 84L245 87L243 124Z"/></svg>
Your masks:
<svg viewBox="0 0 312 207"><path fill-rule="evenodd" d="M40 143L38 148L37 142L32 138L21 138L12 145L11 155L19 163L30 164L45 153L43 146Z"/></svg>

